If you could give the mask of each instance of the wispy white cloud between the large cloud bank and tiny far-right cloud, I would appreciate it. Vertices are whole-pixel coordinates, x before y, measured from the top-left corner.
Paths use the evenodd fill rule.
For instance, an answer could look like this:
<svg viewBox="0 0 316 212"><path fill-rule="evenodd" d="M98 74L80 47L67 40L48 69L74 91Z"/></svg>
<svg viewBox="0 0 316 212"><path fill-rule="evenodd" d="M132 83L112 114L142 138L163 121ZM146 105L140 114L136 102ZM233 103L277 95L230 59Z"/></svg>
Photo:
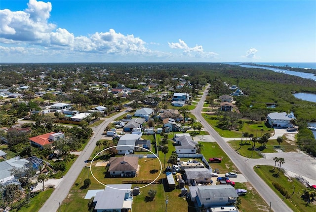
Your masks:
<svg viewBox="0 0 316 212"><path fill-rule="evenodd" d="M179 39L177 43L169 43L168 45L172 49L183 49L183 54L190 57L200 57L200 58L211 58L217 55L214 52L204 52L201 45L196 45L195 47L190 48L183 40Z"/></svg>

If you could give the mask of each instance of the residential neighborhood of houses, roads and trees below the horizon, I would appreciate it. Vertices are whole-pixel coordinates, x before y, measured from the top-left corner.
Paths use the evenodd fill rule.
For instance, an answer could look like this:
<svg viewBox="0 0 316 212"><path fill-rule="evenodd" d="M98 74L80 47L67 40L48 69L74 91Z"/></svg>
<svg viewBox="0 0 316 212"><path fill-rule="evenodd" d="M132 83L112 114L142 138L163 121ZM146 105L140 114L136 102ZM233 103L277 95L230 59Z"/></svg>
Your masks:
<svg viewBox="0 0 316 212"><path fill-rule="evenodd" d="M316 211L316 109L250 73L2 64L0 212Z"/></svg>

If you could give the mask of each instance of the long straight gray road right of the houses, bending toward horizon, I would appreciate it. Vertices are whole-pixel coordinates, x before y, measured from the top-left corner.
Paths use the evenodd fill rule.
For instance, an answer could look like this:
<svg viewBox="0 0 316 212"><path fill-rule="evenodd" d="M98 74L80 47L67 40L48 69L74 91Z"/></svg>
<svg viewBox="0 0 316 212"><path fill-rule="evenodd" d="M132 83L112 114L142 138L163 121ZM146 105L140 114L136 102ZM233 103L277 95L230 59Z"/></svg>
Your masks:
<svg viewBox="0 0 316 212"><path fill-rule="evenodd" d="M236 165L237 169L243 174L243 176L249 181L252 186L259 192L262 198L267 202L268 205L271 204L271 209L275 212L291 212L292 210L276 195L276 193L253 171L253 166L250 163L246 163L245 157L240 156L235 152L229 144L224 141L222 137L204 120L201 114L201 109L203 107L204 100L206 98L209 85L205 89L202 98L200 99L197 107L192 110L192 113L196 116L197 120L201 122L205 131L207 131L219 146L224 150L224 152L230 157L233 163ZM276 202L278 201L278 202Z"/></svg>

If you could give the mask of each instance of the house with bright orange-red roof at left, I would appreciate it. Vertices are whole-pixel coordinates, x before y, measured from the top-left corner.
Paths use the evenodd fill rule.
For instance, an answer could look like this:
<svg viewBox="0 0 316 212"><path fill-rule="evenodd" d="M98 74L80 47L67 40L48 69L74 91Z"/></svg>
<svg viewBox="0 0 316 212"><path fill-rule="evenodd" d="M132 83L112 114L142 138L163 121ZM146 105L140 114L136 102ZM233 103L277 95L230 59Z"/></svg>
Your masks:
<svg viewBox="0 0 316 212"><path fill-rule="evenodd" d="M60 139L65 139L64 133L51 132L51 133L46 133L40 136L29 138L32 145L40 147L41 149L43 149L44 146L51 146L54 141L58 141Z"/></svg>

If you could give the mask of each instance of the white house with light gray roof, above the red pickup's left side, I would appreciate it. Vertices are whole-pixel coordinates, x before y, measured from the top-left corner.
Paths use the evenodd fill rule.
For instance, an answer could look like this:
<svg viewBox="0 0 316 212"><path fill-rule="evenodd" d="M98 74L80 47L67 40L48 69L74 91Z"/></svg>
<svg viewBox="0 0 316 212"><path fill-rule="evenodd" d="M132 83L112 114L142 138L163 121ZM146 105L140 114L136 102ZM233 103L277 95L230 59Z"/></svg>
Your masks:
<svg viewBox="0 0 316 212"><path fill-rule="evenodd" d="M193 141L190 134L180 137L174 137L173 140L176 143L175 148L177 154L197 153L197 141Z"/></svg>

